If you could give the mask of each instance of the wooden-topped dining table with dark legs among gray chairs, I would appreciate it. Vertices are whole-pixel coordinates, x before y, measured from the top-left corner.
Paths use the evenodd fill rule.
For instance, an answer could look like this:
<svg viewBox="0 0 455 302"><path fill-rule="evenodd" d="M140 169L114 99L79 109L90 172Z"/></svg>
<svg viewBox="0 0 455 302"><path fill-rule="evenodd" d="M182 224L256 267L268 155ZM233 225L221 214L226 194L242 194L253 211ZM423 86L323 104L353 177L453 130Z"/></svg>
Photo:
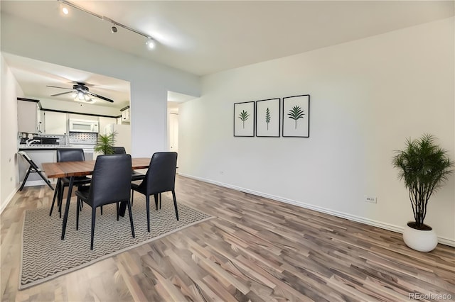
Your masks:
<svg viewBox="0 0 455 302"><path fill-rule="evenodd" d="M132 169L147 169L149 168L150 160L150 157L134 157L132 158ZM48 178L67 177L70 180L65 204L65 214L63 215L62 240L65 239L66 223L68 221L68 212L70 210L71 195L73 194L74 179L75 177L91 175L93 173L93 169L95 168L95 162L95 160L84 160L78 162L43 162L43 164L41 164L41 167L43 168L42 170ZM119 212L122 212L123 209L123 215L126 206L126 203L124 205L121 204L120 206Z"/></svg>

